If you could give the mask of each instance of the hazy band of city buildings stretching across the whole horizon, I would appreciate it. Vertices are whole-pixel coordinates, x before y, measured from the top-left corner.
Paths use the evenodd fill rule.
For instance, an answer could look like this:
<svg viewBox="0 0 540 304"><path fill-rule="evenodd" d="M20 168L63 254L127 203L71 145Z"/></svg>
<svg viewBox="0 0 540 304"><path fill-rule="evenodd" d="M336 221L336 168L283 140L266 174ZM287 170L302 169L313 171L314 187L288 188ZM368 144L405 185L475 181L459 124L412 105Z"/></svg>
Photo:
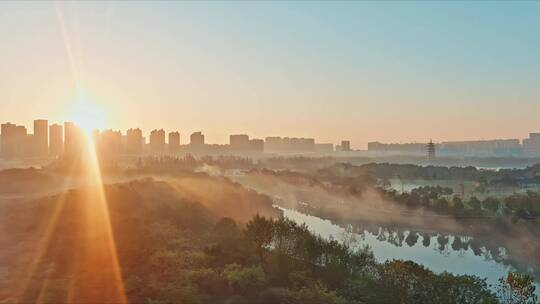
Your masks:
<svg viewBox="0 0 540 304"><path fill-rule="evenodd" d="M208 142L202 131L181 136L178 130L163 128L145 133L138 127L127 130L84 129L74 122L58 124L46 119L33 121L33 133L25 125L2 123L0 157L7 159L32 157L61 157L80 153L81 149L95 150L102 155L204 155L228 154L281 154L281 153L334 153L366 151L390 154L424 154L425 147L442 151L445 156L529 156L540 155L540 133L529 133L523 139L461 140L408 143L369 142L367 150L351 149L350 140L340 144L321 143L316 138L265 136L250 138L246 133L230 134L226 144ZM145 136L146 135L146 136ZM182 141L181 138L184 138ZM434 156L431 157L434 159Z"/></svg>

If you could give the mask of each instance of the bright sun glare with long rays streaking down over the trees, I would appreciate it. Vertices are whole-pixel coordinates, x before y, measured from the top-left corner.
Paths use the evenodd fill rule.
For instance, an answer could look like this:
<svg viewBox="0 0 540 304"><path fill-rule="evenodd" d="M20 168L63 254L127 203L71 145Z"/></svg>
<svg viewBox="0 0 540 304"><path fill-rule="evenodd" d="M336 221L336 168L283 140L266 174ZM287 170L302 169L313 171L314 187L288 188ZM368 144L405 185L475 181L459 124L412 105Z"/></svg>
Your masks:
<svg viewBox="0 0 540 304"><path fill-rule="evenodd" d="M85 299L91 302L127 303L99 159L91 136L92 129L104 126L104 116L102 112L98 111L95 104L88 100L88 95L83 91L80 84L79 65L73 52L62 10L56 2L55 9L77 97L70 118L84 131L79 134L84 139L81 143L80 153L74 157L71 155L71 159L63 160L69 164L69 170L64 172L66 176L62 189L74 186L76 184L74 183L75 176L82 173L85 184L83 184L83 189L77 191L87 196L85 198L75 196L80 200L76 202L76 208L81 208L82 212L81 220L83 223L76 226L81 229L79 233L82 239L77 241L73 248L69 248L77 258L73 269L71 269L73 278L69 282L66 297L69 302ZM58 223L62 216L65 216L66 201L72 198L68 196L69 193L58 196L58 201L52 207L50 217L44 223L43 229L38 231L36 235L34 253L30 257L28 267L25 267L24 273L20 274L22 279L17 280L19 284L14 290L15 298L18 300L34 297L30 293L34 287L37 287L39 292L33 298L33 302L41 301L47 293L52 278L47 276L39 281L39 278L36 279L36 274L43 262L51 258L48 255L51 254L52 247L58 246L54 243L55 233L61 229ZM93 239L92 236L96 235L98 237ZM92 263L99 263L99 265ZM97 271L92 273L88 271L89 269ZM92 283L98 283L99 287L111 290L109 293L101 294L100 290L96 292L93 289L96 286Z"/></svg>

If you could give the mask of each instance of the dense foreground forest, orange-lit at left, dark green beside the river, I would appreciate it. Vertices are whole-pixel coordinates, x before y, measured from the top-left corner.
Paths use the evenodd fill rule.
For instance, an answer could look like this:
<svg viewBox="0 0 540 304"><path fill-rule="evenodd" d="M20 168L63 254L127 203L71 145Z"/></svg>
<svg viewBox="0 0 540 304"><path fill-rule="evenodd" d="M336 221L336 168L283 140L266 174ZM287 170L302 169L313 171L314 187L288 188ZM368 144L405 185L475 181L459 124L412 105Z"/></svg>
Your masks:
<svg viewBox="0 0 540 304"><path fill-rule="evenodd" d="M307 183L331 195L367 189L347 187L342 177L334 184L273 174L295 188ZM99 191L92 185L3 199L0 302L537 301L528 275L510 272L492 287L479 277L436 274L411 261L377 262L369 248L316 236L283 218L270 197L227 178L197 172L153 176L105 185L102 213L95 210ZM414 195L439 199L446 191L425 188Z"/></svg>

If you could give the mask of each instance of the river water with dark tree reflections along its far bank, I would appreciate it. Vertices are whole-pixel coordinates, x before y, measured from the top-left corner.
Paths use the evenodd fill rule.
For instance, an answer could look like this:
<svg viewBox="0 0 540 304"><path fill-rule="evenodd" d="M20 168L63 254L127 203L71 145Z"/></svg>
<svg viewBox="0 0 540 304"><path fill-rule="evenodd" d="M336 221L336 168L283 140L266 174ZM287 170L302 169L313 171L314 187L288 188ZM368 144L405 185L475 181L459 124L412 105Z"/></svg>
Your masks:
<svg viewBox="0 0 540 304"><path fill-rule="evenodd" d="M325 238L343 240L353 248L369 245L375 258L384 262L392 259L411 260L423 264L436 273L476 275L496 286L498 279L509 270L519 270L540 281L540 269L533 262L517 262L505 248L483 243L469 236L454 236L433 232L419 232L399 227L374 224L335 225L328 220L305 215L295 210L282 209L284 216L305 223L314 233ZM537 285L537 293L540 285Z"/></svg>

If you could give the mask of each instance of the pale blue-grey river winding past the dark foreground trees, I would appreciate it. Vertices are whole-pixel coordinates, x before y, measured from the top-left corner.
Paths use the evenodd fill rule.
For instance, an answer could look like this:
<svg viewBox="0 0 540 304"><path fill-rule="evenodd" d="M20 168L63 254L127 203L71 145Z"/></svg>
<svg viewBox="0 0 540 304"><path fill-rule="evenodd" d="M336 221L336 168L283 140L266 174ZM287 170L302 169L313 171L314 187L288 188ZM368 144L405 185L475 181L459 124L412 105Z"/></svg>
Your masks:
<svg viewBox="0 0 540 304"><path fill-rule="evenodd" d="M459 246L459 249L455 250L453 248L454 236L444 237L441 240L440 236L424 237L425 235L420 236L415 232L408 238L411 232L406 230L390 232L383 227L380 227L378 231L352 227L345 229L329 220L306 215L292 209L279 208L286 218L299 224L306 224L313 233L323 238L346 241L348 244L352 244L353 248L368 245L373 251L375 259L379 262L392 259L411 260L424 265L435 273L447 271L459 275L475 275L486 278L492 289L496 289L500 277L514 269L512 266L502 263L505 252L503 248L500 248L497 254L491 254L483 248L480 249L480 254L478 249L473 250L471 246ZM398 236L398 233L401 235ZM536 293L540 296L538 281Z"/></svg>

